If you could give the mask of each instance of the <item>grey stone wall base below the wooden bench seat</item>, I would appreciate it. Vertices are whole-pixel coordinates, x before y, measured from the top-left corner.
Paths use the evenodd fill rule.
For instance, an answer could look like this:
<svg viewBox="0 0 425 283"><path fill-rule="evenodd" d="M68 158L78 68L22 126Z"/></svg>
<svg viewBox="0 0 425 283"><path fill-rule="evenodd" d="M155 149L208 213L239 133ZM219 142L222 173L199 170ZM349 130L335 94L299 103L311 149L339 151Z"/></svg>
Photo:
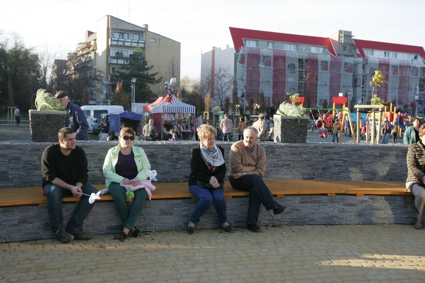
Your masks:
<svg viewBox="0 0 425 283"><path fill-rule="evenodd" d="M274 215L261 206L258 225L343 225L343 224L414 224L416 212L403 196L292 195L276 200L287 206L284 213ZM142 231L184 230L195 209L194 199L162 199L147 201L136 222ZM75 209L74 203L63 203L67 223ZM226 200L226 214L232 227L246 226L247 197ZM84 231L103 235L118 233L121 220L113 201L96 203L84 221ZM197 228L220 228L217 214L211 207ZM217 229L217 233L222 230ZM19 205L0 207L0 242L53 238L46 206Z"/></svg>

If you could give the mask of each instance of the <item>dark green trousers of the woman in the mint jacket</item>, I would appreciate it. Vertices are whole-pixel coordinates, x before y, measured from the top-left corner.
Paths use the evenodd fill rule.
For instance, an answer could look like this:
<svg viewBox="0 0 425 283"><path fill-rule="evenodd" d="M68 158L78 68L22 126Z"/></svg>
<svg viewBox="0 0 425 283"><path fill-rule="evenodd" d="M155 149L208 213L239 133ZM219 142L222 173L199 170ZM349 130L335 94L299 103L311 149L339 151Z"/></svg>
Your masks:
<svg viewBox="0 0 425 283"><path fill-rule="evenodd" d="M125 198L126 189L119 183L112 182L109 185L109 192L114 197L115 207L121 217L124 228L131 230L136 223L137 219L145 208L146 197L148 193L145 189L138 189L134 191L134 201L131 204L130 211L127 206Z"/></svg>

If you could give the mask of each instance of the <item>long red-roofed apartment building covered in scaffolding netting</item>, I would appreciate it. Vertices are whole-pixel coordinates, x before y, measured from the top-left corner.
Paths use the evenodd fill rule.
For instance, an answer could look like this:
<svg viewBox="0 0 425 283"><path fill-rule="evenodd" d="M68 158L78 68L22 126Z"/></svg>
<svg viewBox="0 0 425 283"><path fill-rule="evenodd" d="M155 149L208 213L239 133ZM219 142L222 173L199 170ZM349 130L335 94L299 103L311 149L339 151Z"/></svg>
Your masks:
<svg viewBox="0 0 425 283"><path fill-rule="evenodd" d="M425 51L422 46L355 39L347 30L316 37L229 27L235 54L234 77L238 95L258 102L264 93L267 107L299 93L305 105L321 108L343 93L350 106L368 104L369 81L375 70L388 84L378 96L403 108L424 98Z"/></svg>

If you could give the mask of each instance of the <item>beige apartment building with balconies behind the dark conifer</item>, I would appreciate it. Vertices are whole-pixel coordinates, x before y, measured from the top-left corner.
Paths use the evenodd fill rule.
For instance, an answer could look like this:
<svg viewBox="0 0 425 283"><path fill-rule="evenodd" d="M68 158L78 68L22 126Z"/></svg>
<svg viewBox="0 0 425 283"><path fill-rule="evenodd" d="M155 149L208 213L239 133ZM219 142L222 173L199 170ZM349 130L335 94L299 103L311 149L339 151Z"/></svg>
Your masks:
<svg viewBox="0 0 425 283"><path fill-rule="evenodd" d="M122 80L117 71L128 64L136 47L143 48L148 65L154 66L152 73L158 72L164 82L171 77L180 81L180 45L178 41L150 31L148 24L138 26L105 15L97 21L97 30L86 31L84 42L78 43L75 52L68 56L66 72L100 71L103 82L87 90L89 104L107 104L114 100L116 85ZM151 86L151 90L158 96L164 95L164 82Z"/></svg>

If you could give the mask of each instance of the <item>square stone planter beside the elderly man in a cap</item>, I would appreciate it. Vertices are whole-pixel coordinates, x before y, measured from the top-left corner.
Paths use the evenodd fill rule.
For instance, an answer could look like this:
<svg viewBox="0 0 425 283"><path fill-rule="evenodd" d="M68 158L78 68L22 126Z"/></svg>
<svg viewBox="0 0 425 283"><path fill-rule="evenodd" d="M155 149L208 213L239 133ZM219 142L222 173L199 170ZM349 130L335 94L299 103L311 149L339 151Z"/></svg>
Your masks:
<svg viewBox="0 0 425 283"><path fill-rule="evenodd" d="M29 110L31 141L57 142L57 132L65 127L66 111Z"/></svg>

